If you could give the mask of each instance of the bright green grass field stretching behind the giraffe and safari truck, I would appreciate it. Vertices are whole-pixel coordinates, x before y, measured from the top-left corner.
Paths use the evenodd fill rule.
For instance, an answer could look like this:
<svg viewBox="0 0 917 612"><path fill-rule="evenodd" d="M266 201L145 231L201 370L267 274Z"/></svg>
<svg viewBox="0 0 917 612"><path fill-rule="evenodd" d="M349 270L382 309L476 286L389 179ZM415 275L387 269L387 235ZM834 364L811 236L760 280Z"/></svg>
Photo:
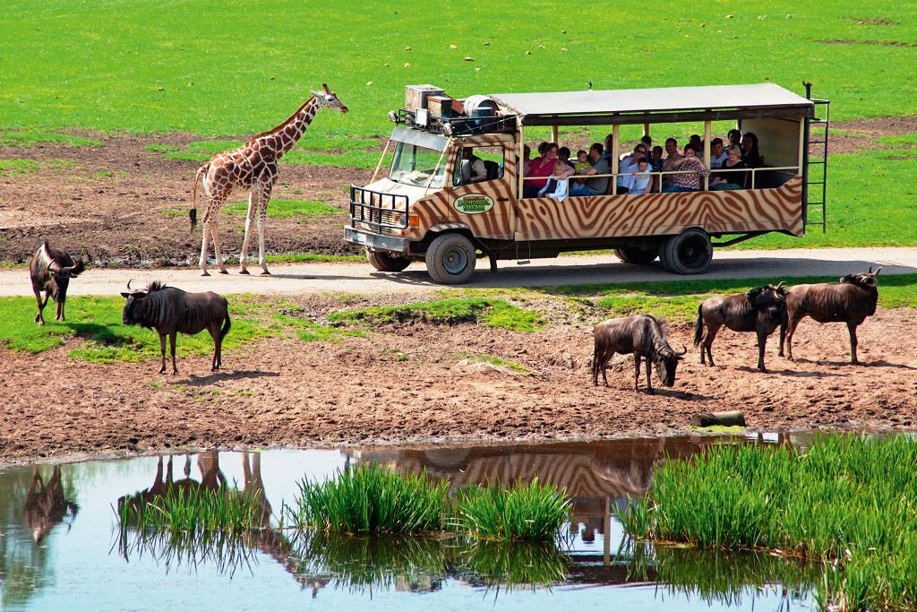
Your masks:
<svg viewBox="0 0 917 612"><path fill-rule="evenodd" d="M599 89L771 81L801 92L808 79L815 95L832 100L835 121L917 114L917 98L903 86L917 74L913 3L721 0L652 10L561 3L497 13L485 3L402 10L379 0L352 7L255 0L218 10L212 0L5 6L6 145L97 144L53 131L68 128L225 139L158 149L203 160L277 125L323 82L350 112L323 111L287 163L374 167L391 128L385 114L403 104L409 83L466 96L580 90L590 81ZM585 142L604 131L567 136ZM827 234L768 236L736 248L917 244L917 190L901 178L917 169L917 135L882 140L888 150L832 155ZM5 160L0 175L37 169Z"/></svg>

